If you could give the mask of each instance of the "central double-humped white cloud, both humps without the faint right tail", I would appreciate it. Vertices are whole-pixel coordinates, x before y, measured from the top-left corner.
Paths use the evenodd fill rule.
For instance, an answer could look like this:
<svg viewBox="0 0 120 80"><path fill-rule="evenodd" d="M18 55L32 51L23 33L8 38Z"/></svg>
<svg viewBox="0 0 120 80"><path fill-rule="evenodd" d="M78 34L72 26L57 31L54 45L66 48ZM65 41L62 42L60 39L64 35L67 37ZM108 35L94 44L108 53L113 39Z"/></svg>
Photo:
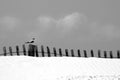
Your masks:
<svg viewBox="0 0 120 80"><path fill-rule="evenodd" d="M37 19L37 30L44 36L64 37L63 35L72 33L74 29L86 24L86 22L86 16L77 12L59 19L48 16L39 16Z"/></svg>

